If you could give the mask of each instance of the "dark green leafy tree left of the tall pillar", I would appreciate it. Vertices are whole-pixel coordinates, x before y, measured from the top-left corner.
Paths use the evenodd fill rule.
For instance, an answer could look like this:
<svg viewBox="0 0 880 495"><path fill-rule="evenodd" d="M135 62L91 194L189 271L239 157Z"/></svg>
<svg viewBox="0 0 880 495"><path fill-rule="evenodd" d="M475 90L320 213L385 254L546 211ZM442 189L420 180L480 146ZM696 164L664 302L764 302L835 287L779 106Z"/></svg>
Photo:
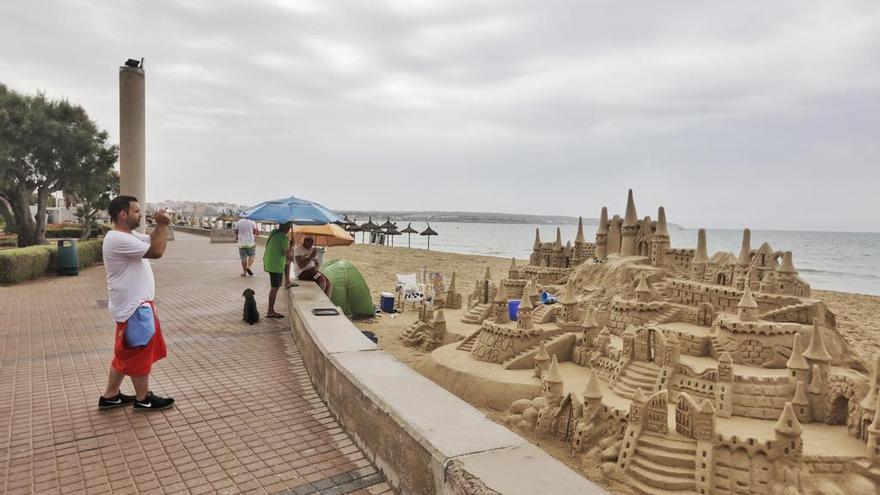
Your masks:
<svg viewBox="0 0 880 495"><path fill-rule="evenodd" d="M108 187L101 173L116 161L116 147L86 111L43 94L22 95L0 84L0 216L19 246L46 242L46 208L55 191ZM112 159L111 159L112 157ZM36 215L30 214L36 194Z"/></svg>

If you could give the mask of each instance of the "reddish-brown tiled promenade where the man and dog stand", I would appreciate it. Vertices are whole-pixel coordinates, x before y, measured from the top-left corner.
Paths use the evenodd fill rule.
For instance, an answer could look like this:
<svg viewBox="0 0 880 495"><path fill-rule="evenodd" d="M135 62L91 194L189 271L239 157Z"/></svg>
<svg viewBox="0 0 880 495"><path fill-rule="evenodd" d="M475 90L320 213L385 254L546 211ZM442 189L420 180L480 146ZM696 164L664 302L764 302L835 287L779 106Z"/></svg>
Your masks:
<svg viewBox="0 0 880 495"><path fill-rule="evenodd" d="M0 287L0 493L391 493L315 394L287 318L240 321L247 287L266 312L261 256L242 278L235 245L177 233L153 262L169 356L151 388L177 400L163 412L97 410L103 267Z"/></svg>

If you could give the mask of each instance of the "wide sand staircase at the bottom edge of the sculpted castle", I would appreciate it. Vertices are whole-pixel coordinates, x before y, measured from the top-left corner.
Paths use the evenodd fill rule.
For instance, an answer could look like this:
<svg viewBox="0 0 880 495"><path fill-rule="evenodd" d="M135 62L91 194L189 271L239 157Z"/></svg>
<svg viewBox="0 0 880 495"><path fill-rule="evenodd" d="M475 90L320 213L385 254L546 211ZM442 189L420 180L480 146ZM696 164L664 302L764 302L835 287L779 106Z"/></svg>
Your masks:
<svg viewBox="0 0 880 495"><path fill-rule="evenodd" d="M696 494L697 441L678 433L643 432L626 468L644 495Z"/></svg>

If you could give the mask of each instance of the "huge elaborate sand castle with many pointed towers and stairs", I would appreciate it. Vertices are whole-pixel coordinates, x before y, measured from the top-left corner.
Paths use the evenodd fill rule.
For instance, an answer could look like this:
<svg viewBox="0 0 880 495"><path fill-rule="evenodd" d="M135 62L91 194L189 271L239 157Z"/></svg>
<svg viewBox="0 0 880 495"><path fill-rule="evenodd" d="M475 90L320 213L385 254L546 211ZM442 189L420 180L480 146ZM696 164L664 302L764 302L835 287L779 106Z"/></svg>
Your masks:
<svg viewBox="0 0 880 495"><path fill-rule="evenodd" d="M751 242L673 248L663 207L639 219L630 191L595 242L580 222L573 244L536 233L527 264L487 269L442 337L423 308L422 370L639 493L876 493L880 359L868 376L792 253Z"/></svg>

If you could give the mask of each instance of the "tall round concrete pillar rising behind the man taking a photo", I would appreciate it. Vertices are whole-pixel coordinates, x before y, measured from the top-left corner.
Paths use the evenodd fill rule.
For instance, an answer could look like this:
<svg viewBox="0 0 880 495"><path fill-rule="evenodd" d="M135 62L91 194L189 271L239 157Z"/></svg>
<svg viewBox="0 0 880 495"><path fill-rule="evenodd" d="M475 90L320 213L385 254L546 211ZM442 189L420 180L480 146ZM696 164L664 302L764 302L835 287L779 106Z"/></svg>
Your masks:
<svg viewBox="0 0 880 495"><path fill-rule="evenodd" d="M144 111L144 70L119 68L119 193L134 196L141 205L141 226L144 232L147 207Z"/></svg>

